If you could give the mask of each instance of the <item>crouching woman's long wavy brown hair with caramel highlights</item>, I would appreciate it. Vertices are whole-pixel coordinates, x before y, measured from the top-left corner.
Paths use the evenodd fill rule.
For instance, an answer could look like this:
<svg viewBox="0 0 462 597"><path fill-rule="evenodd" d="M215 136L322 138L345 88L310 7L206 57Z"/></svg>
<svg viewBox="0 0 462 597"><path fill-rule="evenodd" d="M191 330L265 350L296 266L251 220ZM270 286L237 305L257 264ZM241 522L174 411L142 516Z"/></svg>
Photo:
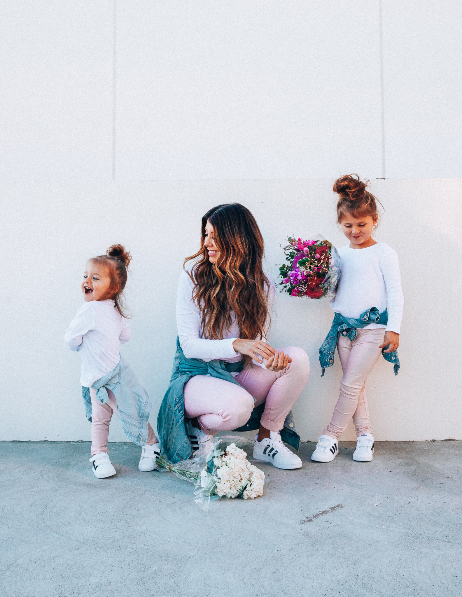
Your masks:
<svg viewBox="0 0 462 597"><path fill-rule="evenodd" d="M213 226L213 239L219 256L210 263L204 245L207 221ZM196 260L189 276L194 283L192 298L201 313L204 338L220 340L232 325L231 312L239 337L262 340L267 324L270 282L262 267L264 242L258 224L240 203L216 205L202 218L201 246L184 265ZM244 355L244 365L250 356Z"/></svg>

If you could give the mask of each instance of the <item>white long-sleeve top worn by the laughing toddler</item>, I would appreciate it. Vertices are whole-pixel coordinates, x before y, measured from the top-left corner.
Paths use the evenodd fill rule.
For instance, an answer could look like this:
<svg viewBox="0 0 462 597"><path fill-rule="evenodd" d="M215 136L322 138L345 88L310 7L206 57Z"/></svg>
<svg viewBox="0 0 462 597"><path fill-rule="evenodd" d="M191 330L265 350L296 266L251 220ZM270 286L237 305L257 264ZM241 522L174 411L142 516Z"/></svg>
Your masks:
<svg viewBox="0 0 462 597"><path fill-rule="evenodd" d="M82 304L64 339L82 358L80 383L91 387L119 364L120 345L130 340L130 326L113 300L92 300Z"/></svg>

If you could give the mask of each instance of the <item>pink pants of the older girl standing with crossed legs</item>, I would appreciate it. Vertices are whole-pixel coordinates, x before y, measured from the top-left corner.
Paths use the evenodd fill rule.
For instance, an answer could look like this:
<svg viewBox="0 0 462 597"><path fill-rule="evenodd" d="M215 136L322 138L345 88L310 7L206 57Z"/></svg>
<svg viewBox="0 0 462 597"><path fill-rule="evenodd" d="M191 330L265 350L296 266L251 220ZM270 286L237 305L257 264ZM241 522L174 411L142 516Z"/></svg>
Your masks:
<svg viewBox="0 0 462 597"><path fill-rule="evenodd" d="M340 395L335 405L332 421L323 431L324 435L339 438L353 417L356 435L371 433L369 407L366 398L366 377L371 373L381 353L385 328L356 330L353 342L347 336L339 336L337 352L343 369Z"/></svg>

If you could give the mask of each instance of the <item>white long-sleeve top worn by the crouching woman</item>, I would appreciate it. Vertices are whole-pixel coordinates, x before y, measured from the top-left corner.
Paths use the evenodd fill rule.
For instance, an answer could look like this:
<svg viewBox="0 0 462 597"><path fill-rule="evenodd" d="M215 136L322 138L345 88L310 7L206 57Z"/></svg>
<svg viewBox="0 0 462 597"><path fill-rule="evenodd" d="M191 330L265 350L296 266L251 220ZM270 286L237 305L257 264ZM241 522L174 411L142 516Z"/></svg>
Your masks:
<svg viewBox="0 0 462 597"><path fill-rule="evenodd" d="M225 330L222 340L207 340L203 338L201 328L201 312L192 300L194 284L188 273L183 270L178 281L176 296L176 325L181 349L187 359L202 359L203 361L241 361L242 355L236 352L232 343L239 337L239 328L231 313L232 325ZM274 301L274 286L271 284L268 297L268 311L271 313Z"/></svg>

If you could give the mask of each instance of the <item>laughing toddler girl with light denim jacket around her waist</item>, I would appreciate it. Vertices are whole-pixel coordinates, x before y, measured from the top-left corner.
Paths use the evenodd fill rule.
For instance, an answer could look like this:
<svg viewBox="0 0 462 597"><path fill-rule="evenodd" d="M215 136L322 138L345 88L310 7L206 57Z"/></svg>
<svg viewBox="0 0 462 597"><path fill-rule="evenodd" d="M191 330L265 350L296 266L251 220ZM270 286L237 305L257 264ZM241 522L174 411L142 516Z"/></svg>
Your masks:
<svg viewBox="0 0 462 597"><path fill-rule="evenodd" d="M122 245L112 245L106 255L88 261L81 283L85 303L65 335L69 348L82 357L80 383L91 421L90 462L98 479L115 475L108 454L112 413L120 417L127 438L142 445L139 470L154 470L160 454L160 444L148 422L148 394L120 356L120 345L130 340L122 304L130 261Z"/></svg>

